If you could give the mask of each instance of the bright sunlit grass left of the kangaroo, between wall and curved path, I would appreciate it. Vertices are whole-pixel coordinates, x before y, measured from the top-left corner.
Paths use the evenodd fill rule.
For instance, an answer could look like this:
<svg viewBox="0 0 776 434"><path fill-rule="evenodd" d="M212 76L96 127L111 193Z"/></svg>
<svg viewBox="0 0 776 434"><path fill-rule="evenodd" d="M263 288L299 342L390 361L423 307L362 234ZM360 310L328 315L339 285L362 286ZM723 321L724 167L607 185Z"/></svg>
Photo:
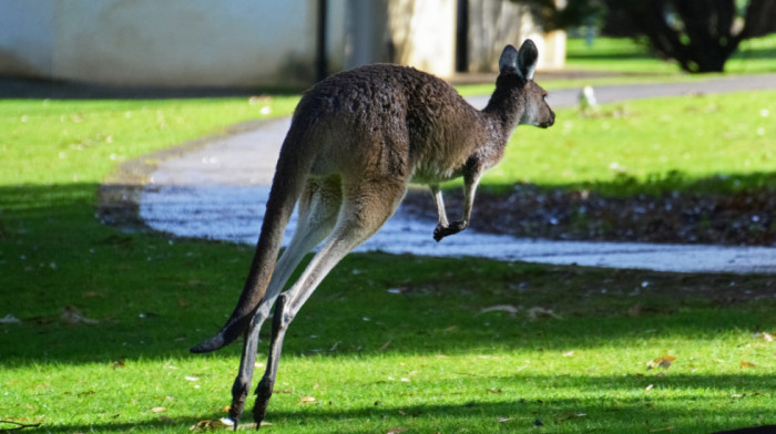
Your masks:
<svg viewBox="0 0 776 434"><path fill-rule="evenodd" d="M100 183L122 161L288 114L298 96L181 101L2 101L0 184ZM262 108L268 107L267 114Z"/></svg>

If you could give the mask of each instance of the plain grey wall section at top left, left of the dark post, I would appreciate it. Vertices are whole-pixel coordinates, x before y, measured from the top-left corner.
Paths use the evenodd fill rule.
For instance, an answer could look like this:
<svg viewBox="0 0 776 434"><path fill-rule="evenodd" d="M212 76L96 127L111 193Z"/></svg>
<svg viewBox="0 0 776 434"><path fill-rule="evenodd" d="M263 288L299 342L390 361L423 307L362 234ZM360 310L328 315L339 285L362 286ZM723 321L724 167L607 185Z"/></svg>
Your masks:
<svg viewBox="0 0 776 434"><path fill-rule="evenodd" d="M316 0L2 0L0 7L3 73L155 86L314 79Z"/></svg>

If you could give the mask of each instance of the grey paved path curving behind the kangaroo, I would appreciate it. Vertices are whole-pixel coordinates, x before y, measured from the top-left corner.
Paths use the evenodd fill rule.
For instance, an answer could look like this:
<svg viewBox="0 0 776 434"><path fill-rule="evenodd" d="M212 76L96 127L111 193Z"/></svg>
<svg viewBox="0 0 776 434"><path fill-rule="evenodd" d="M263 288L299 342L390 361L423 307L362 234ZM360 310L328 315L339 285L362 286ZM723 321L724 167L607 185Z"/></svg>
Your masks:
<svg viewBox="0 0 776 434"><path fill-rule="evenodd" d="M776 89L776 74L695 83L601 86L595 89L595 94L600 103L609 103L760 89ZM579 90L553 91L550 103L557 108L572 106L578 93ZM469 100L481 107L488 97ZM255 244L275 161L288 125L288 118L268 121L254 131L214 140L204 148L163 162L141 196L141 218L154 229L178 236ZM292 221L286 240L294 226ZM547 241L478 234L472 229L437 244L431 238L435 226L436 221L412 219L399 208L357 250L660 271L776 273L776 248Z"/></svg>

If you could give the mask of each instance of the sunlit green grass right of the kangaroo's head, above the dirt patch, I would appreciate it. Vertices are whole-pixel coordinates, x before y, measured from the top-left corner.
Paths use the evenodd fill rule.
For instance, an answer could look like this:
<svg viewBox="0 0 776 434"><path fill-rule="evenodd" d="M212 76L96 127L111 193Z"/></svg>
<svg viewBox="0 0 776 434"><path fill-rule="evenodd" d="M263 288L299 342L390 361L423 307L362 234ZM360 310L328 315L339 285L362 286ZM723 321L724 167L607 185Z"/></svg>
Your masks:
<svg viewBox="0 0 776 434"><path fill-rule="evenodd" d="M483 183L614 195L776 188L775 101L760 91L561 110L549 130L518 127Z"/></svg>

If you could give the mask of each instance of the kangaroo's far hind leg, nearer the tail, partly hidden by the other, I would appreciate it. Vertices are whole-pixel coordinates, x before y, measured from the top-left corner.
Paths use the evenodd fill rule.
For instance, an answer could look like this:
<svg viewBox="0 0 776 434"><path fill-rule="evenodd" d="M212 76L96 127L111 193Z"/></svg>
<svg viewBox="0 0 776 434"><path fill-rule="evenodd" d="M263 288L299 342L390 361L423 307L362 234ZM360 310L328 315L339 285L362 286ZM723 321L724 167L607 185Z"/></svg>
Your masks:
<svg viewBox="0 0 776 434"><path fill-rule="evenodd" d="M267 292L245 332L239 371L232 386L229 418L234 421L235 426L237 426L239 416L243 413L245 399L251 388L258 349L258 333L262 324L269 317L269 310L275 303L275 299L305 255L331 232L337 221L340 205L341 185L338 178L310 179L307 182L305 190L299 198L299 218L294 237L283 255L280 255L280 259L277 261L275 271L267 286Z"/></svg>

